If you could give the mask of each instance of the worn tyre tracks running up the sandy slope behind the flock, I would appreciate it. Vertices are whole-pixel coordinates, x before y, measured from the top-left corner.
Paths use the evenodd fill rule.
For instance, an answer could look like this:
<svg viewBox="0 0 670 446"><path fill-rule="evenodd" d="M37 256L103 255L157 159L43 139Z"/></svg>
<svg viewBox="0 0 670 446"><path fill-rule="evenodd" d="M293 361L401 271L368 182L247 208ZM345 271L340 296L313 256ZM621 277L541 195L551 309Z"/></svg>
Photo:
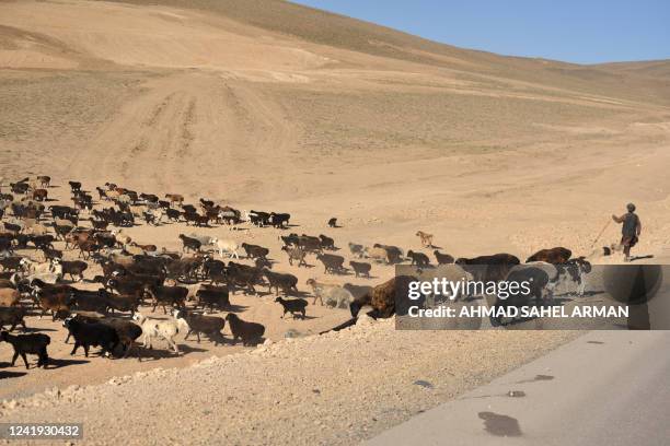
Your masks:
<svg viewBox="0 0 670 446"><path fill-rule="evenodd" d="M73 177L222 198L222 183L210 178L226 175L227 196L280 193L276 165L291 156L298 132L262 85L175 73L145 87L71 161Z"/></svg>

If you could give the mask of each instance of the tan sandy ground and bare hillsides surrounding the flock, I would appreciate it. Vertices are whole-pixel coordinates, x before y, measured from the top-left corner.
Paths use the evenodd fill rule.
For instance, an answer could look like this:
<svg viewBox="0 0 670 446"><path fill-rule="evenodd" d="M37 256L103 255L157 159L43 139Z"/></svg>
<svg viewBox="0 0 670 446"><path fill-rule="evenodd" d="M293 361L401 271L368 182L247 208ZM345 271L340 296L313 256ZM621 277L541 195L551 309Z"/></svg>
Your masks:
<svg viewBox="0 0 670 446"><path fill-rule="evenodd" d="M290 212L296 232L327 234L340 247L420 249L414 234L423 230L453 256L507 251L523 259L559 245L591 255L610 214L634 201L644 225L634 254L670 260L667 61L585 67L506 58L281 1L151 3L0 1L2 184L51 175L59 187L49 195L63 200L69 179L86 189L115 181L190 202ZM343 227L327 228L331 216ZM177 234L186 231L183 223L127 230L169 249L181 247ZM619 231L609 224L594 246L616 242ZM297 274L303 292L308 278L323 277L320 267L288 265L281 231L198 232L268 246L275 268ZM346 249L339 254L349 259ZM335 280L377 284L392 274L376 266L374 279ZM310 334L347 318L346 310L310 306L313 319L281 321L270 301L232 298L274 341L290 328ZM70 390L76 403L51 395L18 410L5 404L3 419L54 415L116 441L141 443L131 435L152 430L180 444L189 442L161 416L178 404L190 443L351 444L574 336L427 337L380 322L258 353L180 341L180 357L79 363L83 356L68 356L58 324L28 325L55 330L51 355L62 366L3 379L0 398L142 374ZM0 344L0 360L8 355ZM221 359L186 367L211 355ZM157 366L163 371L150 372ZM416 379L436 388L413 386ZM165 402L147 411L158 398ZM31 401L45 407L35 412ZM100 403L124 412L104 419L91 409ZM139 421L118 430L113 420L126 407Z"/></svg>

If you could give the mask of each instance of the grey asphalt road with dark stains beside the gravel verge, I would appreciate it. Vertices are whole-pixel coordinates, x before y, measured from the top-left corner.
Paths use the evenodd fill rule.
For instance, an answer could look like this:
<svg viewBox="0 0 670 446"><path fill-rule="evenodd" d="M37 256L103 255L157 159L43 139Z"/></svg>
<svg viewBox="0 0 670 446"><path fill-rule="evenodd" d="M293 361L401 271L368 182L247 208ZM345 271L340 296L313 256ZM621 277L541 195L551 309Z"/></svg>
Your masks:
<svg viewBox="0 0 670 446"><path fill-rule="evenodd" d="M670 445L670 331L589 332L366 445Z"/></svg>

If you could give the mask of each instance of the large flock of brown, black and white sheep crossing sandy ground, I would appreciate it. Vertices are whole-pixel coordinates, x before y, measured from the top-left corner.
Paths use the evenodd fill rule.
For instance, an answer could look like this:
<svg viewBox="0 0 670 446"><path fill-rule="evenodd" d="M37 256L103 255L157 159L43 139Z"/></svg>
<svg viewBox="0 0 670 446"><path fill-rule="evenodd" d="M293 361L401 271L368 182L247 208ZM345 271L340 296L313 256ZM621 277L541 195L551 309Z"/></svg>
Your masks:
<svg viewBox="0 0 670 446"><path fill-rule="evenodd" d="M109 183L95 188L94 199L80 183L69 181L72 204L47 206L49 187L50 178L38 176L11 183L9 193L0 191L0 329L7 326L13 331L21 326L25 331L26 315L39 312L43 317L50 313L54 320L63 320L74 339L71 354L82 348L86 356L91 347L100 347L102 355L125 357L140 343L151 349L155 340L166 342L178 354L177 334L195 334L198 342L203 334L218 344L224 342L221 331L227 324L233 344L241 340L244 345L253 345L263 341L265 327L240 317L230 297L236 292L261 295L258 286L267 286L266 294L274 292L274 302L282 307L282 318L287 314L305 318L308 302L301 297L305 293L298 290L298 278L276 271L267 247L238 243L232 237L182 233L182 249L170 251L140 244L124 231L143 223L222 225L245 231L241 234L247 233L251 225L288 232L290 214L241 211L206 199L196 207L185 203L181 195L161 198ZM327 226L338 227L336 219L331 219ZM416 236L424 248L432 249L432 235L419 231ZM420 251L405 255L396 246L349 243L349 269L345 257L335 254L335 240L324 234L290 233L279 238L291 266L307 267L308 256L313 256L323 266L324 274L353 271L357 278L369 279L371 261L395 265L411 260L420 268L431 266L429 257ZM507 271L520 263L510 255L458 260L438 250L434 255L437 265L455 261L464 270L470 265L493 262ZM246 263L240 262L241 257L247 259ZM544 257L539 260L565 262L569 257L568 250L557 261ZM93 267L101 273L89 273ZM84 280L97 284L97 290L78 287ZM353 319L334 328L340 329L355 321L362 307L369 307L368 314L373 317L391 316L395 280L374 287L350 283L340 286L323 279L310 279L307 285L311 287L312 304L319 301L350 309ZM141 306L151 307L152 313L161 307L164 317L142 315ZM227 315L215 315L218 312ZM36 354L38 366L48 364L47 345L51 340L47 334L2 331L0 339L13 345L12 365L22 356L27 368L25 354ZM142 349L136 350L140 357Z"/></svg>

